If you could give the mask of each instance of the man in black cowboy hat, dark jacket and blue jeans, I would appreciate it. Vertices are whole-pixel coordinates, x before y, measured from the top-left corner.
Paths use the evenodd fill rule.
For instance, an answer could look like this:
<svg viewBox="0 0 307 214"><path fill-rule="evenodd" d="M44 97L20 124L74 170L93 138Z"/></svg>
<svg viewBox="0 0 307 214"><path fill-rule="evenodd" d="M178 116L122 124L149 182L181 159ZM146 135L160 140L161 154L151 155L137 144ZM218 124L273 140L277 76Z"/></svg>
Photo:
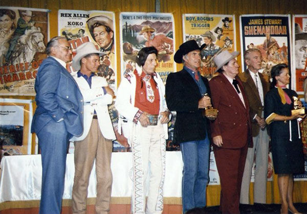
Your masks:
<svg viewBox="0 0 307 214"><path fill-rule="evenodd" d="M169 74L166 80L167 107L177 112L174 142L180 144L184 162L183 212L206 206L210 142L208 119L202 115L202 111L211 107L211 101L208 80L198 72L204 46L199 47L195 40L181 44L174 61L183 63L184 68Z"/></svg>

